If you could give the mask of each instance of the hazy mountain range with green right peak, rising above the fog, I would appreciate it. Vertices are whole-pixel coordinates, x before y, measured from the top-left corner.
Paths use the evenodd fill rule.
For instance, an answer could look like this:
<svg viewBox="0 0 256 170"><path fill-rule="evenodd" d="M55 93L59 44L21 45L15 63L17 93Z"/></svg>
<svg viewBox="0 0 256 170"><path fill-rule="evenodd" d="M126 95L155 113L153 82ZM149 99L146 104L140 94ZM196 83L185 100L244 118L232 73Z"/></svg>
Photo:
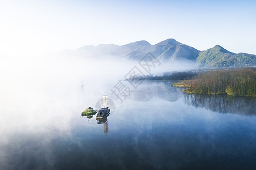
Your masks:
<svg viewBox="0 0 256 170"><path fill-rule="evenodd" d="M86 45L77 50L69 50L69 52L74 51L86 57L114 56L138 61L150 52L162 63L192 61L200 67L241 67L256 65L256 56L253 54L232 53L220 45L200 52L200 50L182 44L175 39L167 39L155 45L151 45L149 42L143 40L121 46L114 44Z"/></svg>

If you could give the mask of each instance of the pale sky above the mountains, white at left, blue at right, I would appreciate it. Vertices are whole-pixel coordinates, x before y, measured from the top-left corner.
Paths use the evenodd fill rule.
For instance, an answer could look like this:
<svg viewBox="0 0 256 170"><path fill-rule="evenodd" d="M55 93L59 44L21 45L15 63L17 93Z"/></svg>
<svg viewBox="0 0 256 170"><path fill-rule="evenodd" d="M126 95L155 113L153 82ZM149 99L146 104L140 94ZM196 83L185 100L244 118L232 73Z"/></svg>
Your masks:
<svg viewBox="0 0 256 170"><path fill-rule="evenodd" d="M256 1L0 0L0 24L0 53L7 54L168 38L256 54Z"/></svg>

